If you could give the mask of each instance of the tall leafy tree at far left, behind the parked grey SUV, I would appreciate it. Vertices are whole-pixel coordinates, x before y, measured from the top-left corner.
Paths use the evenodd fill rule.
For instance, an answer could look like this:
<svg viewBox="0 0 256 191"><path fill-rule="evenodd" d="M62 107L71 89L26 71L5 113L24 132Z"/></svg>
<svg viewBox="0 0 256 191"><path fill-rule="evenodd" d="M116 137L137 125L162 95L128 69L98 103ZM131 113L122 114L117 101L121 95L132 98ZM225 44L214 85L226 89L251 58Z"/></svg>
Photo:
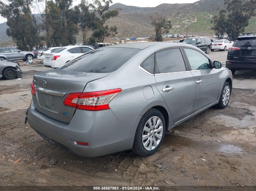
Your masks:
<svg viewBox="0 0 256 191"><path fill-rule="evenodd" d="M31 50L38 42L35 17L31 14L32 1L8 0L0 2L0 14L7 18L6 34L15 41L19 49Z"/></svg>

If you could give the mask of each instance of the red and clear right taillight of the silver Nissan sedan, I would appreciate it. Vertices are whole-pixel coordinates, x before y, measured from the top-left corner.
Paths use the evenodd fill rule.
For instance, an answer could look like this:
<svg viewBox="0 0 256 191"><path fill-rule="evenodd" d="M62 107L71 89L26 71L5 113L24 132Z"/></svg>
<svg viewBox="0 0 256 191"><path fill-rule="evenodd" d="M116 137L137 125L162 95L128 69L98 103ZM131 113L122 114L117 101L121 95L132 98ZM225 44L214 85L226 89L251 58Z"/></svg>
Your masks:
<svg viewBox="0 0 256 191"><path fill-rule="evenodd" d="M80 110L100 111L110 109L109 103L122 91L121 88L94 92L68 94L64 105Z"/></svg>

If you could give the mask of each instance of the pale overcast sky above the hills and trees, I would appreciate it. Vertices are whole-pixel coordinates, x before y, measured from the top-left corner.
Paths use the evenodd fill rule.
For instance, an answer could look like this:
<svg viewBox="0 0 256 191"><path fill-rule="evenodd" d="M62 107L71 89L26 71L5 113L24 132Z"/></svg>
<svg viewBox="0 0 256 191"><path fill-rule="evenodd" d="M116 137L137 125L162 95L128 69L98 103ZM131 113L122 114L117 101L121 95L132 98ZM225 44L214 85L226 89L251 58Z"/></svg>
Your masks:
<svg viewBox="0 0 256 191"><path fill-rule="evenodd" d="M156 7L162 3L194 3L198 0L112 0L114 3L122 3L125 5L132 5L137 7ZM74 0L74 4L78 4L79 0ZM6 19L0 16L0 23L5 22Z"/></svg>

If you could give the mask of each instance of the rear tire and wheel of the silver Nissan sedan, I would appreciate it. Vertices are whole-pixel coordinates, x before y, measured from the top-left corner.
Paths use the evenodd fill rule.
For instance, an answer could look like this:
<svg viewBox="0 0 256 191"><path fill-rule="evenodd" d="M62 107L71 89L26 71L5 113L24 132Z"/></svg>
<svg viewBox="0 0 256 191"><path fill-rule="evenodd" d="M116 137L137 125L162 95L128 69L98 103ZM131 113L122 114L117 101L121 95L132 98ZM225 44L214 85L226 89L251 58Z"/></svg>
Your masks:
<svg viewBox="0 0 256 191"><path fill-rule="evenodd" d="M141 156L150 156L160 147L165 137L165 118L156 109L149 109L137 126L132 151Z"/></svg>

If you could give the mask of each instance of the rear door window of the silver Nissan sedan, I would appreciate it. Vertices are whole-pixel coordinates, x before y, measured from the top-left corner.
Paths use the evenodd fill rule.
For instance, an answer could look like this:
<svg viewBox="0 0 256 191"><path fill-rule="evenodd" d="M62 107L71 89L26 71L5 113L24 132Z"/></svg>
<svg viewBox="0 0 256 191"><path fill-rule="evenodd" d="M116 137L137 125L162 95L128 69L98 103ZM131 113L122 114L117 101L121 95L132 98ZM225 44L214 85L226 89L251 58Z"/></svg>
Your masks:
<svg viewBox="0 0 256 191"><path fill-rule="evenodd" d="M156 53L156 74L183 71L186 71L186 67L179 48Z"/></svg>

